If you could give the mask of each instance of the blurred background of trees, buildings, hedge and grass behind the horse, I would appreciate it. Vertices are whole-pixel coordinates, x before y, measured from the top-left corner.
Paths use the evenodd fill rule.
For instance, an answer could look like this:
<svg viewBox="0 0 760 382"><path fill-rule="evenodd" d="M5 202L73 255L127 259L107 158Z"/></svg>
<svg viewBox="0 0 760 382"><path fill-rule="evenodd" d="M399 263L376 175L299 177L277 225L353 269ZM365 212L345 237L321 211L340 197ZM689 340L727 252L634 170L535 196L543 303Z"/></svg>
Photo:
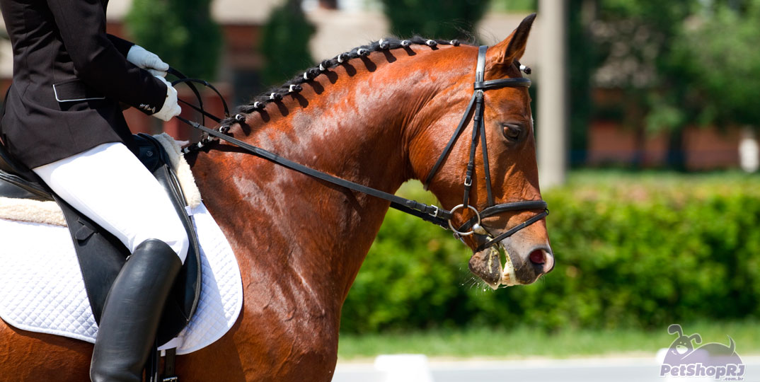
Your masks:
<svg viewBox="0 0 760 382"><path fill-rule="evenodd" d="M532 12L521 62L556 268L491 291L448 232L391 210L344 306L340 359L654 357L674 323L760 354L760 0L111 0L108 30L239 105L384 36L493 44ZM2 93L11 71L6 36Z"/></svg>

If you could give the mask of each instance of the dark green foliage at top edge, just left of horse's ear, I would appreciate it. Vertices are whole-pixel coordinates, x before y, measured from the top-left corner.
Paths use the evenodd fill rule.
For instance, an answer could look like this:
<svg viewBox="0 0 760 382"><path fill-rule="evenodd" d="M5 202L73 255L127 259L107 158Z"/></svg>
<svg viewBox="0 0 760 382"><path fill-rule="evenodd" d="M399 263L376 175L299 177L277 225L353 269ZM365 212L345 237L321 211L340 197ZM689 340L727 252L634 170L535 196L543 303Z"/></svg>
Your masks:
<svg viewBox="0 0 760 382"><path fill-rule="evenodd" d="M474 26L486 13L483 0L382 0L391 32L401 37L420 35L435 39L470 39Z"/></svg>

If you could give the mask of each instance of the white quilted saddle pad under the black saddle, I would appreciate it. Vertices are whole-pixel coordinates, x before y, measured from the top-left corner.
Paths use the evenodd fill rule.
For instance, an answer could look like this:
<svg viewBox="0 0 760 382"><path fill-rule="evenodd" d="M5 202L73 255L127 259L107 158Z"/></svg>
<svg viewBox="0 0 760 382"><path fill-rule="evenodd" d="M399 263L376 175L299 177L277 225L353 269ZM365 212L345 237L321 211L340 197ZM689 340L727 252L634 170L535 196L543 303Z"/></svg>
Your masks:
<svg viewBox="0 0 760 382"><path fill-rule="evenodd" d="M230 244L203 204L192 214L201 245L202 287L192 320L160 349L202 349L235 324L242 280ZM22 330L95 342L97 324L68 228L0 219L0 317Z"/></svg>

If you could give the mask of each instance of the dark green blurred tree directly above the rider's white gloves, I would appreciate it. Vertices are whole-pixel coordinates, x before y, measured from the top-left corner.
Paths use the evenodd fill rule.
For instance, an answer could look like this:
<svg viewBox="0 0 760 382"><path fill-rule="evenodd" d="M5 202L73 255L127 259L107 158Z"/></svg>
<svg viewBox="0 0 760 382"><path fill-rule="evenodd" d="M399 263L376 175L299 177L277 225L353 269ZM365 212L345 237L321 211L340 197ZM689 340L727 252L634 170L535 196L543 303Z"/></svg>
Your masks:
<svg viewBox="0 0 760 382"><path fill-rule="evenodd" d="M211 0L135 0L126 24L135 43L189 77L213 80L222 48Z"/></svg>

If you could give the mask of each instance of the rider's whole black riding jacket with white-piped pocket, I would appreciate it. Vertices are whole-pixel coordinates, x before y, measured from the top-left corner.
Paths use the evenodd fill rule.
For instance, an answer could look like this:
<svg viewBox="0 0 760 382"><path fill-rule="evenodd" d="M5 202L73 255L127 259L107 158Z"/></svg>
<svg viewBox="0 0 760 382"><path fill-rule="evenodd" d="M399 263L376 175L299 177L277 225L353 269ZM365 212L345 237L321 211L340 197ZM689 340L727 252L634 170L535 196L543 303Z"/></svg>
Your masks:
<svg viewBox="0 0 760 382"><path fill-rule="evenodd" d="M30 168L128 142L119 102L147 114L163 106L166 85L126 60L134 44L106 34L107 4L0 0L14 55L0 134Z"/></svg>

